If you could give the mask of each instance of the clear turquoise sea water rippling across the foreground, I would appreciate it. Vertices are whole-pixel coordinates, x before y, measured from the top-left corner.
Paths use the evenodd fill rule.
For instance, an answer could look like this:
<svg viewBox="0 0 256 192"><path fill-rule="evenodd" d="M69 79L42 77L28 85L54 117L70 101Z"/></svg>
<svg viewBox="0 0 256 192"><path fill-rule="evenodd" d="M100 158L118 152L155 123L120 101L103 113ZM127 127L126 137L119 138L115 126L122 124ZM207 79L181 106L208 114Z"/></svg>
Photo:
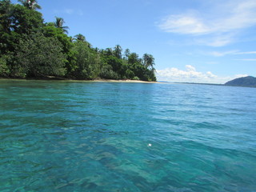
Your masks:
<svg viewBox="0 0 256 192"><path fill-rule="evenodd" d="M256 89L0 81L0 191L256 191Z"/></svg>

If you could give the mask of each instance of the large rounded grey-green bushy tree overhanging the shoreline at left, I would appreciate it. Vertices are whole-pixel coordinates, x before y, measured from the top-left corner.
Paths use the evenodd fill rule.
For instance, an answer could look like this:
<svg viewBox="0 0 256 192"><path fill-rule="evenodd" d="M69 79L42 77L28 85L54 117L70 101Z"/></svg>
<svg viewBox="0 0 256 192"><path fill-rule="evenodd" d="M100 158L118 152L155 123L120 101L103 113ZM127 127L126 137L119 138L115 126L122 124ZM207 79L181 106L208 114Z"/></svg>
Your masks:
<svg viewBox="0 0 256 192"><path fill-rule="evenodd" d="M17 66L22 67L22 76L63 76L66 58L57 38L46 38L43 34L30 34L20 41L16 50Z"/></svg>

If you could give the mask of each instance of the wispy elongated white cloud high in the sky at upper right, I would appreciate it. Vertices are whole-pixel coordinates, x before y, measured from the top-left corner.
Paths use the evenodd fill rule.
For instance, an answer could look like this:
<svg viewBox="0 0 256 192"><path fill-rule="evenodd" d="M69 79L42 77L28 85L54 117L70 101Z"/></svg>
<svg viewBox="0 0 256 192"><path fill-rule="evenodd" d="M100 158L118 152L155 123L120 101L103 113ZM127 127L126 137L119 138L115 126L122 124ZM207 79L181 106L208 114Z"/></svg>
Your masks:
<svg viewBox="0 0 256 192"><path fill-rule="evenodd" d="M219 11L211 19L208 14L196 15L194 13L171 14L162 20L160 29L166 32L181 34L210 34L229 32L256 24L256 1L244 0L223 6L229 10L229 14L218 17ZM227 11L226 11L227 12ZM213 13L211 13L213 14Z"/></svg>

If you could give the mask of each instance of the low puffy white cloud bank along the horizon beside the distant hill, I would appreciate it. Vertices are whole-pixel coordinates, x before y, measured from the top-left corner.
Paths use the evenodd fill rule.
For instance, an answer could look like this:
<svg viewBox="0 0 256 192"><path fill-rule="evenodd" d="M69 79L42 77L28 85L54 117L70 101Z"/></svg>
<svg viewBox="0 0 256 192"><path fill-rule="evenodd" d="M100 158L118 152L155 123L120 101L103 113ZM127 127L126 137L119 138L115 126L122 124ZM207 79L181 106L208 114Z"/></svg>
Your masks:
<svg viewBox="0 0 256 192"><path fill-rule="evenodd" d="M186 70L178 70L178 68L166 68L165 70L157 70L158 81L164 82L202 82L202 83L225 83L234 78L248 76L247 74L237 74L234 77L218 77L210 71L206 73L198 72L194 66L187 65Z"/></svg>

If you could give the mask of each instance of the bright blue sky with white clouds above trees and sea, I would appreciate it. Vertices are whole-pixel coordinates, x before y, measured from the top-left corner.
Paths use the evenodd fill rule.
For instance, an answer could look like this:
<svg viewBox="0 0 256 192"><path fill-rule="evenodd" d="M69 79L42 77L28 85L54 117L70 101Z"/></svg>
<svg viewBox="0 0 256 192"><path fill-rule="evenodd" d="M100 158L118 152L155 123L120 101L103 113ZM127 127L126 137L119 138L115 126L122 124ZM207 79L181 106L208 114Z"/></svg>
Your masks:
<svg viewBox="0 0 256 192"><path fill-rule="evenodd" d="M15 2L15 1L13 1ZM17 1L16 1L17 2ZM158 81L225 83L256 76L255 0L38 0L45 22L94 47L152 54Z"/></svg>

